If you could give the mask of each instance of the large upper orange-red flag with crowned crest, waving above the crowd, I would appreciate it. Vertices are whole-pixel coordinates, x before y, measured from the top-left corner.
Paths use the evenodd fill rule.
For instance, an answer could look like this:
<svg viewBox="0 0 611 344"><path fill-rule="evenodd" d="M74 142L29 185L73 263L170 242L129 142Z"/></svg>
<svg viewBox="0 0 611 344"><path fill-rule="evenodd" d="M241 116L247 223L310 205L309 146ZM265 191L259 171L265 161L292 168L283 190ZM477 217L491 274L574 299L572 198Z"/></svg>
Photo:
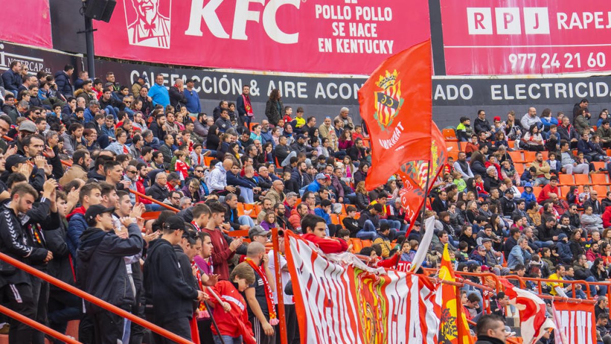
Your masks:
<svg viewBox="0 0 611 344"><path fill-rule="evenodd" d="M360 116L371 135L367 190L387 182L401 164L430 160L431 41L390 56L359 89Z"/></svg>

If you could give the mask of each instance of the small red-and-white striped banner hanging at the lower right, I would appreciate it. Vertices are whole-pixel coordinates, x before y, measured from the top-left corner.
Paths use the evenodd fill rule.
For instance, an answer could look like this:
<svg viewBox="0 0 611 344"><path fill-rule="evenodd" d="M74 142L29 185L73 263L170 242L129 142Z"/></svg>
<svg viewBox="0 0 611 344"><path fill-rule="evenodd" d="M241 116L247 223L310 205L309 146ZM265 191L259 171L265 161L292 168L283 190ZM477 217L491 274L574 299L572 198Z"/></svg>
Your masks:
<svg viewBox="0 0 611 344"><path fill-rule="evenodd" d="M560 332L571 344L596 344L596 316L593 304L554 302Z"/></svg>

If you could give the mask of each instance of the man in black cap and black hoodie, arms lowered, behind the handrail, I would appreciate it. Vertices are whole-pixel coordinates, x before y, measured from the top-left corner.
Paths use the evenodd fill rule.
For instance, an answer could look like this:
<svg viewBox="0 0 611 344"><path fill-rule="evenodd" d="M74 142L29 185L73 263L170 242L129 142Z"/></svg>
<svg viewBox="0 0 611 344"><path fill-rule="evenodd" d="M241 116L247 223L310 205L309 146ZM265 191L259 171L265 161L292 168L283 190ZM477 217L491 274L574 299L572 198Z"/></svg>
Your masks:
<svg viewBox="0 0 611 344"><path fill-rule="evenodd" d="M145 313L152 323L191 339L189 320L193 316L192 303L202 301L205 294L186 282L178 263L173 245L181 241L184 228L185 223L180 217L170 216L163 223L161 238L149 244L144 262L144 285L147 286ZM171 343L159 335L154 337L157 344Z"/></svg>

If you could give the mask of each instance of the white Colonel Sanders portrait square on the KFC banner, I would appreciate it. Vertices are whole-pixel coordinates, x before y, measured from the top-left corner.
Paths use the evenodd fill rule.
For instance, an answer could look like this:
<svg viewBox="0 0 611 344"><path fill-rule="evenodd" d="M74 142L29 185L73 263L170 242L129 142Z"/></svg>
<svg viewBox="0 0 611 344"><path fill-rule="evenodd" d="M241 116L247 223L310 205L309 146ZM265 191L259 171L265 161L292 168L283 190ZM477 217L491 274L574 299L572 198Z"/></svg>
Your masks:
<svg viewBox="0 0 611 344"><path fill-rule="evenodd" d="M127 26L131 45L170 48L170 18L159 13L159 1L161 0L125 0L123 2L127 23L133 20ZM170 6L171 4L167 6L167 13L169 13Z"/></svg>

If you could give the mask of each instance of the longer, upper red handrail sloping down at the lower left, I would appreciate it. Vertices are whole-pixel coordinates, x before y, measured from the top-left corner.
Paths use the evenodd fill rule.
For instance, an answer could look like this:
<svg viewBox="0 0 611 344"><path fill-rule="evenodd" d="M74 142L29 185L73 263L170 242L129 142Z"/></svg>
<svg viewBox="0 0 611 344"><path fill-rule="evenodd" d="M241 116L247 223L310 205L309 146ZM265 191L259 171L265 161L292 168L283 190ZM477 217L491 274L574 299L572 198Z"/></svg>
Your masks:
<svg viewBox="0 0 611 344"><path fill-rule="evenodd" d="M4 253L0 253L0 260L5 261L6 263L9 263L12 266L15 266L16 268L21 269L27 272L28 274L34 275L38 277L39 279L45 280L46 282L49 282L55 286L58 286L59 288L62 288L63 290L68 291L68 293L75 294L76 296L81 297L82 299L85 299L91 302L92 304L97 305L98 307L104 308L105 310L115 313L116 315L122 316L123 318L126 318L132 321L133 323L139 324L142 327L150 329L151 331L156 332L157 334L162 335L163 337L166 337L169 340L174 340L174 342L178 342L180 344L193 344L193 342L191 342L190 340L186 340L185 338L180 337L170 331L167 331L166 329L163 329L162 327L159 327L153 323L150 323L142 318L139 318L138 316L135 316L131 314L130 312L126 312L125 310L122 310L121 308L115 305L109 304L108 302L102 299L98 299L97 297L91 294L85 293L84 291L74 286L71 286L68 283L62 282L56 279L55 277L47 275L44 272L39 271L38 269L35 269L34 267L31 267L25 263L22 263L21 261L16 260L15 258L5 255Z"/></svg>

